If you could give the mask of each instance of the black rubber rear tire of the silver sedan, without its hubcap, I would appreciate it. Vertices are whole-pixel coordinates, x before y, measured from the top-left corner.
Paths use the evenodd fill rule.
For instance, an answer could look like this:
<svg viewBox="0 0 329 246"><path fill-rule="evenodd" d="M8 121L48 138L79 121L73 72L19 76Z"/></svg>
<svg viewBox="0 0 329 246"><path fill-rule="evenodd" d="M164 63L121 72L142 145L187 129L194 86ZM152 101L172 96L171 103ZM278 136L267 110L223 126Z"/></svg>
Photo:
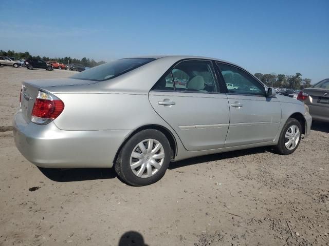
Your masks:
<svg viewBox="0 0 329 246"><path fill-rule="evenodd" d="M134 148L145 139L155 139L160 142L165 152L165 157L161 168L151 177L138 177L135 175L130 167L131 154ZM142 130L132 136L122 147L118 154L115 171L119 178L131 186L147 186L160 180L165 175L170 163L170 144L167 137L160 131L154 129Z"/></svg>

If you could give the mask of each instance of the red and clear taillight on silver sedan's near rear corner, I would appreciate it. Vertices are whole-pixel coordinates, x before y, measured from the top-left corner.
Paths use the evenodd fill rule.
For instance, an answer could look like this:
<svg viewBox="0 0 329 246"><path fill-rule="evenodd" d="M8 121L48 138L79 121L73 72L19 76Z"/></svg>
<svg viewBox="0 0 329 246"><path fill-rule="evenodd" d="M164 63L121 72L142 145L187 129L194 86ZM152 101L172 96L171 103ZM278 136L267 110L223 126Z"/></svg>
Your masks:
<svg viewBox="0 0 329 246"><path fill-rule="evenodd" d="M35 124L45 125L56 119L64 110L64 103L50 93L39 91L35 98L31 121Z"/></svg>

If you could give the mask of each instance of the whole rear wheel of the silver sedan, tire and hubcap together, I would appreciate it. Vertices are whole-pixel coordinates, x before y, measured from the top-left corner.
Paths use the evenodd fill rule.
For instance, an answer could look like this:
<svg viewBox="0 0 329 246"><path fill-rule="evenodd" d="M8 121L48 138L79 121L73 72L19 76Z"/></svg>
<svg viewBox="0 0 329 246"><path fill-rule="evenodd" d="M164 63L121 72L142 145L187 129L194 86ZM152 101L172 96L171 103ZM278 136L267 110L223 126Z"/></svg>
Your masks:
<svg viewBox="0 0 329 246"><path fill-rule="evenodd" d="M170 153L169 141L162 132L142 130L121 149L115 163L116 173L129 185L151 185L165 175Z"/></svg>

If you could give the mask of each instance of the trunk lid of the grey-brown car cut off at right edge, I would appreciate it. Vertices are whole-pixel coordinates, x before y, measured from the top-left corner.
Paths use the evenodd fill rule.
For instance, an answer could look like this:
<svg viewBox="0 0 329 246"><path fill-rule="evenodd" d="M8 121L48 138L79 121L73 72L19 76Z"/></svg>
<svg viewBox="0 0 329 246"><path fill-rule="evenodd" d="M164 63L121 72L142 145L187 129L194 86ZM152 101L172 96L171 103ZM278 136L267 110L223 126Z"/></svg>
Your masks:
<svg viewBox="0 0 329 246"><path fill-rule="evenodd" d="M316 105L329 107L329 90L326 88L306 88L303 92L308 94L308 98L304 100L307 105Z"/></svg>

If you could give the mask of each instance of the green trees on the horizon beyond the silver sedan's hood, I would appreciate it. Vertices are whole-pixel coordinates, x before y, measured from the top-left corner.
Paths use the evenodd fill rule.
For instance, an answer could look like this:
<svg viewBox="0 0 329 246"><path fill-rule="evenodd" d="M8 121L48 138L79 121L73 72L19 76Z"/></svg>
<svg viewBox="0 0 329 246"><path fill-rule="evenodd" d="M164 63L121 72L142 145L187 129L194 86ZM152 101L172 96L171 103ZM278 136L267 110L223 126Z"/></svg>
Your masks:
<svg viewBox="0 0 329 246"><path fill-rule="evenodd" d="M296 73L296 75L255 73L254 75L269 87L302 90L312 86L310 84L312 80L309 78L302 78L301 73Z"/></svg>

